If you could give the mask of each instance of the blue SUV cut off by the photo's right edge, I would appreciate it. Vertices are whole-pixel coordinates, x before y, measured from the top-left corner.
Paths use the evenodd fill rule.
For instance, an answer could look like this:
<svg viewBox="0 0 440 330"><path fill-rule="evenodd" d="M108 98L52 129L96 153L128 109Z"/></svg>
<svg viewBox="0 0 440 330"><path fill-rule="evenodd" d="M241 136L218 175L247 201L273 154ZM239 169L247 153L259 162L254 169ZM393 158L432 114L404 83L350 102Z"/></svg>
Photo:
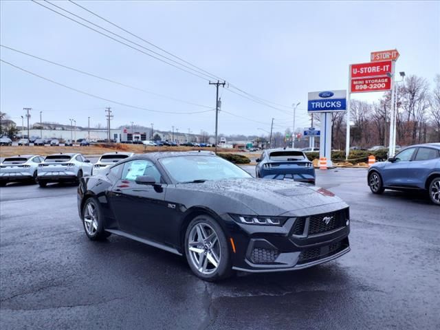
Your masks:
<svg viewBox="0 0 440 330"><path fill-rule="evenodd" d="M425 190L440 205L440 143L408 146L387 162L369 168L368 184L375 194L385 189Z"/></svg>

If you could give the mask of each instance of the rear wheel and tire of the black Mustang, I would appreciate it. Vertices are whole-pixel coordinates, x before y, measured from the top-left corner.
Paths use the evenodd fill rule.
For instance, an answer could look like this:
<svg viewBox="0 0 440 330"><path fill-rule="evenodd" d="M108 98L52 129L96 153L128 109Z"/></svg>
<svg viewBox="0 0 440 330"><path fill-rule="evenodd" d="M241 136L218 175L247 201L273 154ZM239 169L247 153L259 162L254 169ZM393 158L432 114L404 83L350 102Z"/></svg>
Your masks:
<svg viewBox="0 0 440 330"><path fill-rule="evenodd" d="M100 241L110 236L104 231L104 217L98 200L90 197L83 206L83 225L87 237L91 241Z"/></svg>

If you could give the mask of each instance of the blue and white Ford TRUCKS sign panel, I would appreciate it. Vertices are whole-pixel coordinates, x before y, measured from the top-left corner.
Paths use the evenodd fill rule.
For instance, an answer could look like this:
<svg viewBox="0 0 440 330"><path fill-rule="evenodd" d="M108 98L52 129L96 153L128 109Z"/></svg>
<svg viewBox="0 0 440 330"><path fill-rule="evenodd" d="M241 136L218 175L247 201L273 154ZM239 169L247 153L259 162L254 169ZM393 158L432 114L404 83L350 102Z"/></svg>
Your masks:
<svg viewBox="0 0 440 330"><path fill-rule="evenodd" d="M347 91L311 91L307 111L309 112L333 112L347 109Z"/></svg>

